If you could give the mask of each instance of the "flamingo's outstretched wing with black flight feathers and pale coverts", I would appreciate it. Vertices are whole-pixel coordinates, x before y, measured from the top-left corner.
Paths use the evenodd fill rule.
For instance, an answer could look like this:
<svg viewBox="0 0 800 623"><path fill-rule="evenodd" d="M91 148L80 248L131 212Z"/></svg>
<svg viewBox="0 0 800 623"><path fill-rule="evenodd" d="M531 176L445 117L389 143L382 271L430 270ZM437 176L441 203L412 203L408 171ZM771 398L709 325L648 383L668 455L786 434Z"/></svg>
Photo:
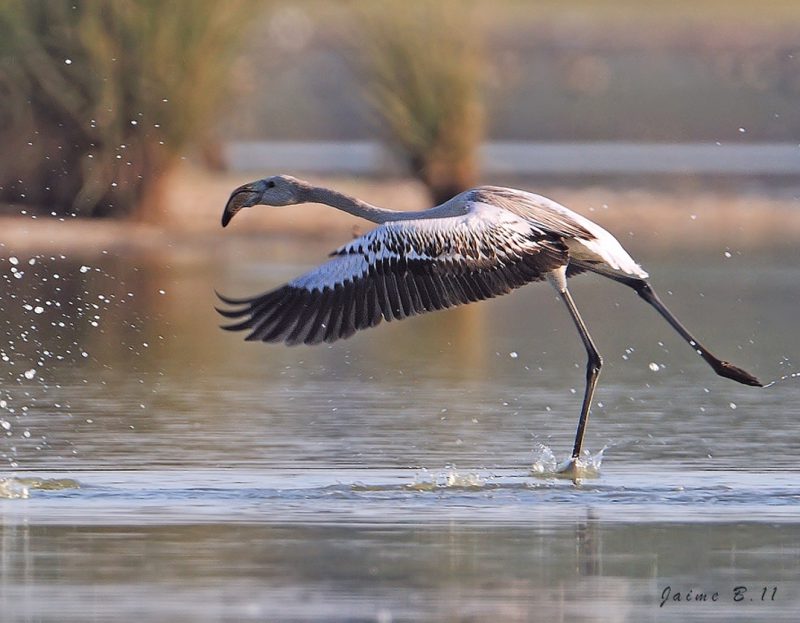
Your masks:
<svg viewBox="0 0 800 623"><path fill-rule="evenodd" d="M317 344L506 294L568 262L558 236L507 210L472 203L461 216L393 221L340 247L331 259L253 298L220 296L248 340Z"/></svg>

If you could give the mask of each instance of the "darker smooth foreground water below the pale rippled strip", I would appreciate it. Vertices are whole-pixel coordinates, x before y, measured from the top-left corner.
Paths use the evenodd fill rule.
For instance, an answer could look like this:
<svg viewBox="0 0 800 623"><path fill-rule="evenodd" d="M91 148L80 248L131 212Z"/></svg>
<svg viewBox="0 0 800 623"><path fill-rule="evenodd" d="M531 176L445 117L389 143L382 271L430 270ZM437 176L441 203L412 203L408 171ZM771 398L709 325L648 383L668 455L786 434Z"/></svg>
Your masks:
<svg viewBox="0 0 800 623"><path fill-rule="evenodd" d="M800 605L791 583L796 527L598 523L591 554L577 536L582 529L569 522L424 530L6 526L0 600L12 616L60 621L375 620L381 613L383 620L453 621L752 620L767 613L789 621ZM93 564L83 563L87 556ZM744 612L732 601L735 586L757 592L765 582L778 586L779 601ZM724 601L659 610L666 586L717 591Z"/></svg>

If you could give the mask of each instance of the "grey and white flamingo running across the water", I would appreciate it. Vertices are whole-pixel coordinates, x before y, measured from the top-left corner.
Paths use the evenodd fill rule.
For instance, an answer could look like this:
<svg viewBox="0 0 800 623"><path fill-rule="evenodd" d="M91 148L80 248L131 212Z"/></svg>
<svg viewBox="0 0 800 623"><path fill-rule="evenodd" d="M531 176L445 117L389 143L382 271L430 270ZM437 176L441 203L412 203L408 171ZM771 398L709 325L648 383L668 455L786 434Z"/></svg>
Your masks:
<svg viewBox="0 0 800 623"><path fill-rule="evenodd" d="M339 247L324 264L249 298L218 295L219 309L249 331L247 340L318 344L348 338L386 320L401 320L493 298L547 279L558 292L586 349L586 382L569 465L580 460L603 359L567 288L590 272L632 288L718 375L762 387L749 372L713 355L667 309L648 274L605 229L540 195L496 186L462 192L419 212L379 208L288 175L236 188L222 226L243 208L321 203L378 224Z"/></svg>

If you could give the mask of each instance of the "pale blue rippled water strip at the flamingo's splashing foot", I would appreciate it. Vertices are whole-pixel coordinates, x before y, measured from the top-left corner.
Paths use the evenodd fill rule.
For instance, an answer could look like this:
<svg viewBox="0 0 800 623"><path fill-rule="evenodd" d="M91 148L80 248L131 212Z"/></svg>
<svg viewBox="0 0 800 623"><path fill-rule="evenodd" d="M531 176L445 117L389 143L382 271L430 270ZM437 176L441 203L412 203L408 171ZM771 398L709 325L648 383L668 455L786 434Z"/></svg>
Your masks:
<svg viewBox="0 0 800 623"><path fill-rule="evenodd" d="M458 520L798 521L800 486L770 472L629 473L577 484L511 470L165 470L15 476L0 481L6 520L378 524ZM557 519L556 519L557 518Z"/></svg>

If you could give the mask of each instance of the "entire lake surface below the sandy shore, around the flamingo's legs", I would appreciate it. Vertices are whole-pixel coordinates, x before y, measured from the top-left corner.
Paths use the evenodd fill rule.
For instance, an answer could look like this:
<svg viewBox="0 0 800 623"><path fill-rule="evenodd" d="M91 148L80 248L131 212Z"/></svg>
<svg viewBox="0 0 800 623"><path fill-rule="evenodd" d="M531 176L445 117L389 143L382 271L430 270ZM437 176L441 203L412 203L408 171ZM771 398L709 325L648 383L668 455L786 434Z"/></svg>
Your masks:
<svg viewBox="0 0 800 623"><path fill-rule="evenodd" d="M218 329L215 288L330 248L0 249L0 620L797 620L800 379L719 378L576 277L602 463L547 477L585 355L545 284L331 346ZM796 249L636 255L713 352L799 370Z"/></svg>

